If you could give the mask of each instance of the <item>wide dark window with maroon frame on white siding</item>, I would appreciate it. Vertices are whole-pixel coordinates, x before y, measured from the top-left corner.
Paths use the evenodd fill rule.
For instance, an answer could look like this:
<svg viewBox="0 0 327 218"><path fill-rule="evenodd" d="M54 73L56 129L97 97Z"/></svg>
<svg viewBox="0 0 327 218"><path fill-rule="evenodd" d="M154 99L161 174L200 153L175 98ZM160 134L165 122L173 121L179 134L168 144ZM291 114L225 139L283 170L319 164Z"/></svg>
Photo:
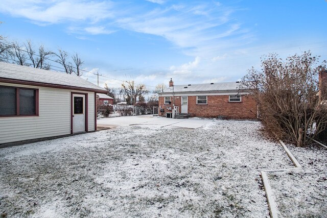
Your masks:
<svg viewBox="0 0 327 218"><path fill-rule="evenodd" d="M0 116L38 115L38 89L0 86Z"/></svg>

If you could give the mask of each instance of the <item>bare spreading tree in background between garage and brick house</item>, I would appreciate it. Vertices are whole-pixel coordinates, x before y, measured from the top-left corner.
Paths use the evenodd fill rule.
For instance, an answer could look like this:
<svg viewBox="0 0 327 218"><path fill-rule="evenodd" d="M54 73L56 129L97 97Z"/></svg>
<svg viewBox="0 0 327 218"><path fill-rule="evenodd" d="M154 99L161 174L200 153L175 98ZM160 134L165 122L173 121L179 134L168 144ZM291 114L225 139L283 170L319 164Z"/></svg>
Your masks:
<svg viewBox="0 0 327 218"><path fill-rule="evenodd" d="M144 94L149 93L145 85L135 85L134 81L126 81L122 84L124 92L127 95L127 99L130 100L131 105L135 105L137 97L144 96Z"/></svg>

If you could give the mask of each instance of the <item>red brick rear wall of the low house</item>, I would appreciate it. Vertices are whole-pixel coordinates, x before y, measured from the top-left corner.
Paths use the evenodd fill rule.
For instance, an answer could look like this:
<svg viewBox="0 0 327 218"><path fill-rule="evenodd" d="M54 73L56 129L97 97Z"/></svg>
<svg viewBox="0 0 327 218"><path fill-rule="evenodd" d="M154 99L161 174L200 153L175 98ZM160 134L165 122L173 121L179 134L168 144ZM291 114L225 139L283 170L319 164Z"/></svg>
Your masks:
<svg viewBox="0 0 327 218"><path fill-rule="evenodd" d="M229 95L208 95L206 105L197 105L196 96L189 96L188 112L191 116L197 117L213 117L217 118L222 116L223 118L231 119L256 119L257 106L255 101L247 95L242 96L242 102L228 102ZM180 110L180 96L175 96L175 105L179 106ZM166 107L172 107L174 99L172 97L171 105L164 105L165 97L159 97L159 106L165 109L165 112L159 115L166 116L166 112L172 112L167 110Z"/></svg>

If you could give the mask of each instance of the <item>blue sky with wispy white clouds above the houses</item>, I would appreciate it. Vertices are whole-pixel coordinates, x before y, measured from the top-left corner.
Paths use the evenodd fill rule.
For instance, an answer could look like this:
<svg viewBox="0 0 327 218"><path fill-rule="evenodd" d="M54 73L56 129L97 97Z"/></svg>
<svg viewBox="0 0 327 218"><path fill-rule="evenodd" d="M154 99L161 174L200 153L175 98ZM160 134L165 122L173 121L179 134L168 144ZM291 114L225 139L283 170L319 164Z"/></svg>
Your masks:
<svg viewBox="0 0 327 218"><path fill-rule="evenodd" d="M268 53L327 59L325 0L1 2L0 35L77 52L100 86L237 81Z"/></svg>

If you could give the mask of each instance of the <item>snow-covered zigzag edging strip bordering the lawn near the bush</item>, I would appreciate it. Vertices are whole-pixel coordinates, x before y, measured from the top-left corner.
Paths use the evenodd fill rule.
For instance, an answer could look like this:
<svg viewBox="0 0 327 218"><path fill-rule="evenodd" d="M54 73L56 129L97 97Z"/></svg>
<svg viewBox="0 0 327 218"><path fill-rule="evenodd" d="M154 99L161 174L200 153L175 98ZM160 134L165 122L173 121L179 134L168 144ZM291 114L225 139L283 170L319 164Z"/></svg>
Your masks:
<svg viewBox="0 0 327 218"><path fill-rule="evenodd" d="M277 218L280 216L280 212L277 208L277 204L275 201L275 196L273 195L273 192L271 190L271 186L268 182L268 174L271 172L283 172L283 171L293 171L295 169L301 168L301 164L296 160L296 158L293 156L293 154L290 152L290 150L286 147L283 141L279 140L279 143L282 144L284 150L286 151L287 155L291 159L291 161L294 163L295 167L293 168L284 168L284 169L270 169L267 171L261 171L261 178L262 182L266 191L266 198L268 202L269 212L271 218Z"/></svg>

